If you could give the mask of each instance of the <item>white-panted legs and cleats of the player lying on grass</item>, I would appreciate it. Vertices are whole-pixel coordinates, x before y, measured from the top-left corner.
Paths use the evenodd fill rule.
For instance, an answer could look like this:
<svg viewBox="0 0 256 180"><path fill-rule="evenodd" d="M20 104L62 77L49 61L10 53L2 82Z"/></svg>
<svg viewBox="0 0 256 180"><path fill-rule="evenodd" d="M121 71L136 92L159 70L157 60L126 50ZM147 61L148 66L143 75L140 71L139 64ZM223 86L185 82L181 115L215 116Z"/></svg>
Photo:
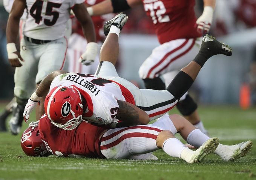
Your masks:
<svg viewBox="0 0 256 180"><path fill-rule="evenodd" d="M174 134L177 132L198 149L193 151L185 147L175 138ZM120 137L123 139L121 142ZM162 148L172 157L195 163L201 162L212 152L225 161L236 160L248 153L252 142L246 141L236 145L219 144L218 138L209 138L184 117L173 114L164 115L153 124L107 130L101 138L100 145L101 153L108 159L144 159L145 153Z"/></svg>

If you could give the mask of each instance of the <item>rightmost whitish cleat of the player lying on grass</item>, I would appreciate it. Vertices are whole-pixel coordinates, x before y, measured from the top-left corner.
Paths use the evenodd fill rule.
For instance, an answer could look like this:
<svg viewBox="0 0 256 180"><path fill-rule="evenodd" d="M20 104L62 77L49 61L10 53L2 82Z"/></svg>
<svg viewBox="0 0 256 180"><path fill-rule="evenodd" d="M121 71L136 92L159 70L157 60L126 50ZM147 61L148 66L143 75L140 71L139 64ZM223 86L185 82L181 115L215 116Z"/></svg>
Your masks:
<svg viewBox="0 0 256 180"><path fill-rule="evenodd" d="M233 161L247 155L252 147L251 141L241 142L240 144L230 145L221 154L225 161Z"/></svg>

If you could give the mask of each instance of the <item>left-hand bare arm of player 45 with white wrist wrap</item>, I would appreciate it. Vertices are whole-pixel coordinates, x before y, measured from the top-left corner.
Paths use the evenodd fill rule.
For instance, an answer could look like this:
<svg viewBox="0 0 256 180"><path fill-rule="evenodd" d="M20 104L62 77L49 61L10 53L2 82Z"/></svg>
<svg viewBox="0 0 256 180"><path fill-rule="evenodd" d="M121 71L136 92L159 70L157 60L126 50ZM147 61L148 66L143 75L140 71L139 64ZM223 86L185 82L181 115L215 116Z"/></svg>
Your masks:
<svg viewBox="0 0 256 180"><path fill-rule="evenodd" d="M7 52L8 60L12 67L20 67L22 64L19 60L24 61L20 56L20 52L17 51L15 42L18 36L20 18L26 7L26 0L15 0L9 14L7 27L6 27L6 38L7 38Z"/></svg>

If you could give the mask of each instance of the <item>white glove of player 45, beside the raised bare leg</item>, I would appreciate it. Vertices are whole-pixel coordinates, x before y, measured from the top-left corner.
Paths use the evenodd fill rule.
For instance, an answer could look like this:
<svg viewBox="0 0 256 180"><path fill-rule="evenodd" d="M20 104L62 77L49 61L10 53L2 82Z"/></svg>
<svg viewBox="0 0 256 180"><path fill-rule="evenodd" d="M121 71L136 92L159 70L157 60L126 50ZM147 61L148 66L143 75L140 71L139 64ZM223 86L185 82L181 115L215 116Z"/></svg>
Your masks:
<svg viewBox="0 0 256 180"><path fill-rule="evenodd" d="M96 42L89 42L86 45L86 51L79 58L79 62L83 65L91 65L98 54L98 44Z"/></svg>

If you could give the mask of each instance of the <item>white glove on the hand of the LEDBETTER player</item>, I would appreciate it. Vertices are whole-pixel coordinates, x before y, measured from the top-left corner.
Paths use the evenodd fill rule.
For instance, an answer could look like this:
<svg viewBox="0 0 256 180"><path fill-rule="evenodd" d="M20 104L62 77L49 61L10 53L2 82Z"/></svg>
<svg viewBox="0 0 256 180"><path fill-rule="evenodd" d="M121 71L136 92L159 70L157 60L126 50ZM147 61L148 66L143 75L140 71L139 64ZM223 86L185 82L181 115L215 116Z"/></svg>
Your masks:
<svg viewBox="0 0 256 180"><path fill-rule="evenodd" d="M28 119L29 119L30 113L33 111L33 109L35 107L35 104L36 103L39 104L39 102L40 102L39 100L40 100L40 97L37 96L37 94L35 92L28 99L28 102L27 102L27 104L25 106L25 109L24 109L24 112L23 112L24 121L26 123L28 123Z"/></svg>

